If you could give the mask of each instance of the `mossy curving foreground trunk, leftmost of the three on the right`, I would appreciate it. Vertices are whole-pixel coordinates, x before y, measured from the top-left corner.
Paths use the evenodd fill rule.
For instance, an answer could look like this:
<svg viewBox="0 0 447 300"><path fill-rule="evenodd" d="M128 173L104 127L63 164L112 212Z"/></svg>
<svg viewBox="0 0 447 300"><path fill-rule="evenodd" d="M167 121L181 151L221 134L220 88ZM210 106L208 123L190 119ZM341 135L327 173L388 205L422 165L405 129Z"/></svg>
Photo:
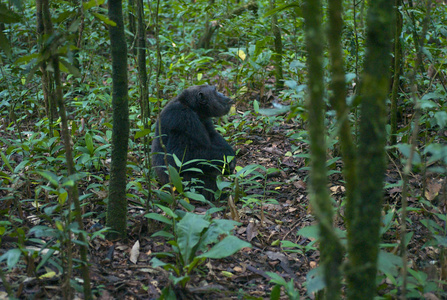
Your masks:
<svg viewBox="0 0 447 300"><path fill-rule="evenodd" d="M326 281L326 299L340 298L340 264L343 248L333 228L333 208L327 190L324 127L323 30L320 0L307 0L303 6L308 53L310 101L310 199L320 227L320 263Z"/></svg>

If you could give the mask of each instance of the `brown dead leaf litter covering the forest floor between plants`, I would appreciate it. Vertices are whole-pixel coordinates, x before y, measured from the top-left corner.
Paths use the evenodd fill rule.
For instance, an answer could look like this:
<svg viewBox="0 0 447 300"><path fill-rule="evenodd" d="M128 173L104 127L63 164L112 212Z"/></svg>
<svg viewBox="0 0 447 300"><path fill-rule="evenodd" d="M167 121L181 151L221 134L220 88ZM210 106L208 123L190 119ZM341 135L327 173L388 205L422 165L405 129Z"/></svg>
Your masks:
<svg viewBox="0 0 447 300"><path fill-rule="evenodd" d="M286 281L293 279L295 288L299 290L301 296L313 298L313 295L306 292L306 275L318 266L319 252L315 248L317 245L309 245L312 242L311 238L297 234L298 230L316 223L306 191L307 170L304 168L306 160L286 155L292 150L292 143L302 149L303 153L307 152L307 144L288 138L287 132L290 130L302 129L296 124L282 123L278 127L273 127L268 134L247 134L245 139L252 142L236 145L239 149L237 157L239 166L260 164L266 168L274 167L281 170L268 179L271 182L281 182L273 186L277 193L268 195L269 198L275 198L278 204L264 204L262 208L255 206L250 209L248 206L244 207L243 203L237 203L241 225L236 228L235 235L249 241L253 247L244 248L225 259L207 261L198 272L191 275L187 289L176 291L178 299L267 299L270 297L273 284L269 283L270 278L266 272L276 272ZM340 171L341 167L341 163L338 162L331 168ZM401 168L400 163L390 156L385 181L390 184L397 183L401 179ZM427 183L425 187L422 184L424 180ZM440 253L438 248L426 245L430 234L426 227L421 226L420 219L432 213L445 213L446 203L439 200L441 197L438 195L442 192L442 186L444 183L440 179L432 178L429 174L425 179L420 174L412 174L410 178L411 195L425 194L426 201L439 202L436 205L424 205L415 197L409 198L408 231L413 232L408 246L410 265L434 277L438 276L440 266L439 263L430 262L439 262ZM334 203L340 206L345 191L340 172L330 175L328 187ZM85 187L80 186L80 189L80 194L84 194L82 189ZM385 211L396 212L399 209L400 195L401 187L386 190ZM90 201L84 206L85 211L104 212L105 206L103 201L99 201L100 198L105 198L105 195L98 195L96 202ZM29 209L27 205L30 206ZM199 203L194 205L196 205L195 212L199 214L209 208ZM230 211L227 204L216 203L216 205L226 208L216 213L214 217L229 219ZM25 220L32 215L31 206L31 202L23 204L22 212ZM415 207L419 210L412 212L411 208ZM343 207L337 212L334 225L344 230ZM154 253L171 252L171 246L160 237L151 237L153 232L162 229L162 225L157 225L155 222L158 228L148 232L148 219L143 217L145 213L140 204L129 202L128 242L112 243L99 238L90 242L90 275L98 299L156 299L160 296L161 289L168 284L169 274L161 268L153 268L150 260ZM97 228L97 223L104 223L104 219L85 220L85 228L91 230ZM399 225L397 218L393 220L383 235L383 243L388 245L386 251L398 254ZM437 223L442 226L440 220L437 220ZM280 243L284 240L300 245L302 249L295 252L284 251ZM137 241L140 244L140 255L138 261L132 263L129 260L129 253ZM12 247L15 247L12 243L3 241L1 252ZM48 268L51 269L51 266ZM26 272L26 268L16 268L6 275L10 283L19 283L19 298L60 298L60 277L36 279ZM381 293L389 291L388 283L386 279L383 280ZM284 291L281 295L282 299L287 299Z"/></svg>

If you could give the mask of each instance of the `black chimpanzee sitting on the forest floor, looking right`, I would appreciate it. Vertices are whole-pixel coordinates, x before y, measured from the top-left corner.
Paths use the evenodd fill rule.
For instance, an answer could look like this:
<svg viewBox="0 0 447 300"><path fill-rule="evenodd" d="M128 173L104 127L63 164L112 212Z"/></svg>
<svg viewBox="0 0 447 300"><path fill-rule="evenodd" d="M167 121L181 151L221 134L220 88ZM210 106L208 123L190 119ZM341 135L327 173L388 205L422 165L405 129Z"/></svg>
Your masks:
<svg viewBox="0 0 447 300"><path fill-rule="evenodd" d="M194 159L206 160L187 164L182 169L199 168L199 172L182 172L184 180L197 178L203 181L205 188L197 188L208 200L213 200L217 190L216 177L221 174L224 157L235 156L233 148L214 129L211 118L220 117L228 113L231 99L216 90L215 86L192 86L171 100L161 112L155 124L155 139L152 142L152 164L161 184L169 182L164 160L164 149L167 152L169 165L177 168L172 154L185 164ZM161 123L161 124L160 124ZM233 172L235 159L227 165L226 173ZM217 168L216 168L217 167ZM177 168L178 169L178 168Z"/></svg>

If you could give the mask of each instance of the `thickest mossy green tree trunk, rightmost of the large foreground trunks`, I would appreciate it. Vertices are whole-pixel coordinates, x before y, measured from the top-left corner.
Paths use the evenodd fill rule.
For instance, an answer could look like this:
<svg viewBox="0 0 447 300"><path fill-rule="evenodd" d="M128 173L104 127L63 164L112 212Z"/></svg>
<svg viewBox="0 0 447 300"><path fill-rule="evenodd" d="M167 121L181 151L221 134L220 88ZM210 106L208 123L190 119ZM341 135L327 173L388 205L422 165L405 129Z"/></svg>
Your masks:
<svg viewBox="0 0 447 300"><path fill-rule="evenodd" d="M360 85L361 122L358 148L358 192L348 231L348 299L376 295L377 256L386 170L386 99L389 92L394 1L369 3L366 57Z"/></svg>

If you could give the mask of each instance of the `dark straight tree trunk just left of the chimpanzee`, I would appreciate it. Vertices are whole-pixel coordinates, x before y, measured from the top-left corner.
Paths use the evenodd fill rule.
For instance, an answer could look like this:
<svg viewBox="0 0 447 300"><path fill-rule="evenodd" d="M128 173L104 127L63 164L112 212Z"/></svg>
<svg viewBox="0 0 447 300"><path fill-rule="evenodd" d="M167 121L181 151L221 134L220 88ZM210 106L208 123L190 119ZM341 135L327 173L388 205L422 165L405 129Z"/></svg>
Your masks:
<svg viewBox="0 0 447 300"><path fill-rule="evenodd" d="M108 238L126 239L126 170L129 142L129 107L127 95L127 47L124 36L121 0L109 0L109 19L114 21L116 26L109 26L112 51L113 130L107 226L111 228Z"/></svg>

